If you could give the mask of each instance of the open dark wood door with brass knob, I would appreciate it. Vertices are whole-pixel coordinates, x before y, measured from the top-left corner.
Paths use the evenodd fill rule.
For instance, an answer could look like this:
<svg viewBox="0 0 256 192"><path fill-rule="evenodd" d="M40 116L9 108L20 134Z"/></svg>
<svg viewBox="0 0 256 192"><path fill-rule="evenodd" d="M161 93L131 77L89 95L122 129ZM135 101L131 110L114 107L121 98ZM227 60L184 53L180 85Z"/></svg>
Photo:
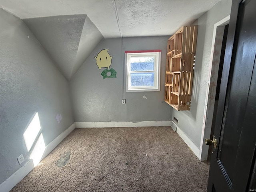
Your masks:
<svg viewBox="0 0 256 192"><path fill-rule="evenodd" d="M256 191L256 0L233 0L208 192Z"/></svg>

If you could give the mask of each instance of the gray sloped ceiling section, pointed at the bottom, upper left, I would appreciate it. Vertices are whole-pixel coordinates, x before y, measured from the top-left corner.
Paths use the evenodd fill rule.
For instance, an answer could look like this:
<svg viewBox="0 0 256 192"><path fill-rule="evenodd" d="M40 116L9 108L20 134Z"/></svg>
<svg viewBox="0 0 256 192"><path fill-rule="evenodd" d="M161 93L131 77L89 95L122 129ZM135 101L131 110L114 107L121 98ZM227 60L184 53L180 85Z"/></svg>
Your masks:
<svg viewBox="0 0 256 192"><path fill-rule="evenodd" d="M103 36L86 15L52 16L23 20L70 80Z"/></svg>

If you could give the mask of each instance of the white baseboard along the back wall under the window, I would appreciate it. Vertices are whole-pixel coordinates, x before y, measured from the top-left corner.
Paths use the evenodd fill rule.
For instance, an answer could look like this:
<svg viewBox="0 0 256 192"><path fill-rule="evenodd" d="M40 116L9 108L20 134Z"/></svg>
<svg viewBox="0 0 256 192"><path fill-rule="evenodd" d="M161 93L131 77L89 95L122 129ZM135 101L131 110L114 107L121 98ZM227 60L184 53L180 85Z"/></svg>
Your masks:
<svg viewBox="0 0 256 192"><path fill-rule="evenodd" d="M76 122L76 128L100 128L100 127L157 127L171 126L170 121L141 121L141 122Z"/></svg>

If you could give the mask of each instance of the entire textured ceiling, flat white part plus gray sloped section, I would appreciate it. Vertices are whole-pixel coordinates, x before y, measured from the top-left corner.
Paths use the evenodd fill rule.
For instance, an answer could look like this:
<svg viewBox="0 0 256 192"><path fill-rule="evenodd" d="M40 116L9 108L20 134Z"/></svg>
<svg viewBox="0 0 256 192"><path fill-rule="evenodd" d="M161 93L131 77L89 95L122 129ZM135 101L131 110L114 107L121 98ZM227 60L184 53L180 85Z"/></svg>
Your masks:
<svg viewBox="0 0 256 192"><path fill-rule="evenodd" d="M219 1L0 0L0 8L26 23L70 80L102 38L170 36Z"/></svg>

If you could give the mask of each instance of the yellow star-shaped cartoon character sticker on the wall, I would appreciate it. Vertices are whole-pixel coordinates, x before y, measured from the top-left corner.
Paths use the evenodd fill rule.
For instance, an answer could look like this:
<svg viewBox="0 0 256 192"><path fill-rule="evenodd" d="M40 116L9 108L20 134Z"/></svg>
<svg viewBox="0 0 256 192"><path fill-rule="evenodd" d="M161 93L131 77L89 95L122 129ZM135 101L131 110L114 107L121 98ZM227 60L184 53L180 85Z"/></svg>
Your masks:
<svg viewBox="0 0 256 192"><path fill-rule="evenodd" d="M109 66L111 65L111 61L112 61L112 56L108 54L108 51L109 51L108 49L103 49L98 53L97 57L94 56L94 58L96 59L96 64L99 69L105 68L105 67L109 69Z"/></svg>

